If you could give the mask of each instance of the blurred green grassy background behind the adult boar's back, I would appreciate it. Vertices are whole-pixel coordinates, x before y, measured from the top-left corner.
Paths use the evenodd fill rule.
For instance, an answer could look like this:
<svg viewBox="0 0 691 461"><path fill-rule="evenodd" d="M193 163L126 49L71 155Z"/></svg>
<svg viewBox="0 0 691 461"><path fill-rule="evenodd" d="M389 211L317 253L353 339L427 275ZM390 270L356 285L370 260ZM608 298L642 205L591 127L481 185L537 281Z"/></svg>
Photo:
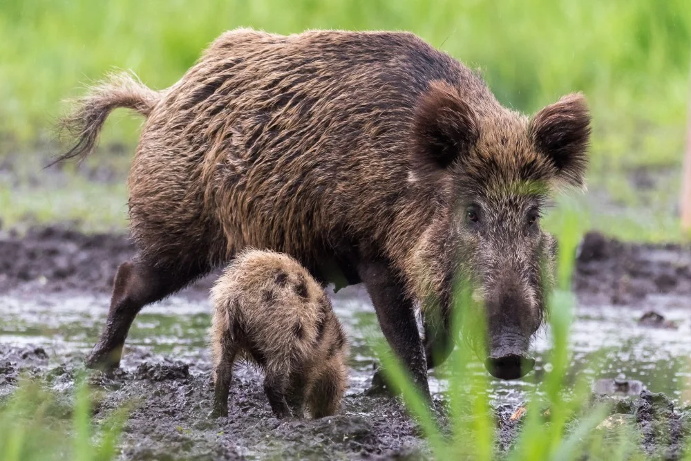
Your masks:
<svg viewBox="0 0 691 461"><path fill-rule="evenodd" d="M590 191L558 202L578 207L584 228L683 238L688 0L1 0L0 217L124 229L124 176L142 120L118 112L95 158L41 170L64 100L113 68L169 86L238 26L410 30L480 68L504 104L526 113L583 91L594 115Z"/></svg>

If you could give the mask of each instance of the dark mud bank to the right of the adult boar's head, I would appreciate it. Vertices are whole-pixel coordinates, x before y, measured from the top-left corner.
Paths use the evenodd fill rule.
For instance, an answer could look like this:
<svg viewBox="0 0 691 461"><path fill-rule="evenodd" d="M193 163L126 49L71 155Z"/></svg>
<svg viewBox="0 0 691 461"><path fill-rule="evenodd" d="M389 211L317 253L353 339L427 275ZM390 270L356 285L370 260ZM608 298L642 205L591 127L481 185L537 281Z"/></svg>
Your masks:
<svg viewBox="0 0 691 461"><path fill-rule="evenodd" d="M583 238L574 290L588 303L641 305L650 295L691 296L691 247L625 243L599 232Z"/></svg>

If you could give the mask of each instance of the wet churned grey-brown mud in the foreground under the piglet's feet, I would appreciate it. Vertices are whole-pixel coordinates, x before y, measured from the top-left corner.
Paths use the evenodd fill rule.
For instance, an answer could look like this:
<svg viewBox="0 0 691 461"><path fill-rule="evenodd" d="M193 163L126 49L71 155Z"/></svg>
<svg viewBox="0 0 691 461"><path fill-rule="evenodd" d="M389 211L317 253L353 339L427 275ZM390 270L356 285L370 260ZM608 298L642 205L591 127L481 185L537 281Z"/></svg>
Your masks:
<svg viewBox="0 0 691 461"><path fill-rule="evenodd" d="M0 344L0 395L10 395L20 373L68 396L83 368L78 356L48 357L43 348ZM229 415L209 417L213 390L208 361L180 361L128 350L123 367L92 373L100 393L96 420L132 408L120 444L129 460L424 459L417 426L397 399L350 394L339 415L319 420L277 420L262 377L238 368Z"/></svg>

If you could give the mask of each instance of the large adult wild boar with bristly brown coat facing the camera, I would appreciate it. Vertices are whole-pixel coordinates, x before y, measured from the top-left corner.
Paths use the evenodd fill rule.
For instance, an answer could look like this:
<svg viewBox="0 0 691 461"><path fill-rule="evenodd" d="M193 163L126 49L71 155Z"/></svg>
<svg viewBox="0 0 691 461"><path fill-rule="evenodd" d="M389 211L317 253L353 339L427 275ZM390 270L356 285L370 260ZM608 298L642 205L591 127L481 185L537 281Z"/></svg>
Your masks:
<svg viewBox="0 0 691 461"><path fill-rule="evenodd" d="M540 261L553 258L540 208L554 187L583 185L582 95L528 118L410 33L240 29L167 90L127 75L93 88L59 160L91 153L117 107L146 117L129 176L138 254L117 272L89 366L117 366L144 305L252 246L294 256L321 283L364 283L426 393L427 369L453 347L459 273L484 301L490 373L531 368L550 278Z"/></svg>

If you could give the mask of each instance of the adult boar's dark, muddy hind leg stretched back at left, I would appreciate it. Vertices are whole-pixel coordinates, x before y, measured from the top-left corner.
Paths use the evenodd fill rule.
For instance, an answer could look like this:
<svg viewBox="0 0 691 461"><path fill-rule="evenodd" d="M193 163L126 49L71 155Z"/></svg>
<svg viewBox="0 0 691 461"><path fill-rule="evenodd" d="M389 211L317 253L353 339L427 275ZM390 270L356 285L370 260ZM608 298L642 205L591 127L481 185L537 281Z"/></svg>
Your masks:
<svg viewBox="0 0 691 461"><path fill-rule="evenodd" d="M201 268L164 270L138 258L122 263L115 275L106 326L86 357L86 366L104 370L120 366L127 332L144 305L167 297L207 272Z"/></svg>

